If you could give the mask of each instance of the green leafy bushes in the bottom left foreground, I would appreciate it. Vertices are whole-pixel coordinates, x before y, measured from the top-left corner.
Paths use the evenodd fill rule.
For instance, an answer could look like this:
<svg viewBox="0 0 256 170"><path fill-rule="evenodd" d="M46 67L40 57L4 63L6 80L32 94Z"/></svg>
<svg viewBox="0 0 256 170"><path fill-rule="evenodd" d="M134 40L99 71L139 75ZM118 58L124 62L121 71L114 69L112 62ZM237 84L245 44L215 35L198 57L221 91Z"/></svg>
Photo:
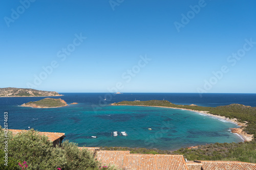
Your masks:
<svg viewBox="0 0 256 170"><path fill-rule="evenodd" d="M87 150L79 150L76 143L64 141L62 148L53 148L47 136L39 135L37 131L29 130L15 136L8 132L8 167L4 165L5 145L4 130L0 129L0 168L22 169L18 163L26 161L25 169L61 170L99 169L99 163ZM108 168L114 169L114 168Z"/></svg>

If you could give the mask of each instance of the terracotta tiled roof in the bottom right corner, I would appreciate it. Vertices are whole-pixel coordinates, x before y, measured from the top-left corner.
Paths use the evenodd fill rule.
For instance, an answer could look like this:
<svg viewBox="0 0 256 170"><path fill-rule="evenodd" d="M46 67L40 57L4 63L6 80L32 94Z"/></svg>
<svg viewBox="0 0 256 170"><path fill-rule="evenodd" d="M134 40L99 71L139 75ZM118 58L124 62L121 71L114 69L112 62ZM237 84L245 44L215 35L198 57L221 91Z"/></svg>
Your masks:
<svg viewBox="0 0 256 170"><path fill-rule="evenodd" d="M255 163L240 161L200 161L203 170L255 170Z"/></svg>

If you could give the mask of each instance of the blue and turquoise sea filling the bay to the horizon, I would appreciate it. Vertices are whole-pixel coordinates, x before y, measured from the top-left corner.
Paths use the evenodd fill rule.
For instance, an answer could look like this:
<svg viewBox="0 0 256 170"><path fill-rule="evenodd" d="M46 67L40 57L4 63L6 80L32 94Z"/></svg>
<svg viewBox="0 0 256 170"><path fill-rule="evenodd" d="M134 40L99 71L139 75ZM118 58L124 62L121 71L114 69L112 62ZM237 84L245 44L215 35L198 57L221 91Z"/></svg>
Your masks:
<svg viewBox="0 0 256 170"><path fill-rule="evenodd" d="M216 107L232 103L256 107L256 94L207 93L61 93L68 104L61 108L27 108L20 105L45 97L0 98L0 125L8 112L9 129L34 128L65 133L80 147L143 147L176 150L215 142L241 142L229 128L236 124L195 112L143 106L110 106L115 102L167 100L174 104ZM106 98L104 101L103 99ZM2 116L1 116L2 115ZM151 128L152 130L148 130ZM117 131L118 136L113 136ZM120 135L125 131L128 136ZM92 138L91 136L97 136Z"/></svg>

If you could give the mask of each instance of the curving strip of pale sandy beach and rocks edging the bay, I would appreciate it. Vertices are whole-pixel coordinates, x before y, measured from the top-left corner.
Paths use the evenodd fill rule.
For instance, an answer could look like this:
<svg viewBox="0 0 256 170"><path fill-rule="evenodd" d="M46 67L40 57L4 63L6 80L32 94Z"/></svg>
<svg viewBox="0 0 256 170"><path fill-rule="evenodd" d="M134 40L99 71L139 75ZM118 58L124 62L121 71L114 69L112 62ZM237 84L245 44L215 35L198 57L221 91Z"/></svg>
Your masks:
<svg viewBox="0 0 256 170"><path fill-rule="evenodd" d="M162 107L162 108L171 108L171 109L180 109L180 110L188 110L188 111L192 111L192 112L196 112L196 113L200 113L200 114L205 114L208 116L212 116L212 117L217 117L219 119L223 119L227 122L236 124L240 127L246 127L246 123L241 123L238 122L238 120L236 118L232 118L229 119L225 116L219 116L219 115L215 115L215 114L211 114L209 113L209 111L201 111L201 110L193 110L193 109L185 109L185 108L177 108L177 107L167 107L167 106L148 106L148 105L116 105L115 103L110 104L111 106L144 106L144 107ZM246 132L244 132L243 130L244 128L230 128L231 133L237 134L239 135L244 141L251 141L253 139L253 135L249 135Z"/></svg>

